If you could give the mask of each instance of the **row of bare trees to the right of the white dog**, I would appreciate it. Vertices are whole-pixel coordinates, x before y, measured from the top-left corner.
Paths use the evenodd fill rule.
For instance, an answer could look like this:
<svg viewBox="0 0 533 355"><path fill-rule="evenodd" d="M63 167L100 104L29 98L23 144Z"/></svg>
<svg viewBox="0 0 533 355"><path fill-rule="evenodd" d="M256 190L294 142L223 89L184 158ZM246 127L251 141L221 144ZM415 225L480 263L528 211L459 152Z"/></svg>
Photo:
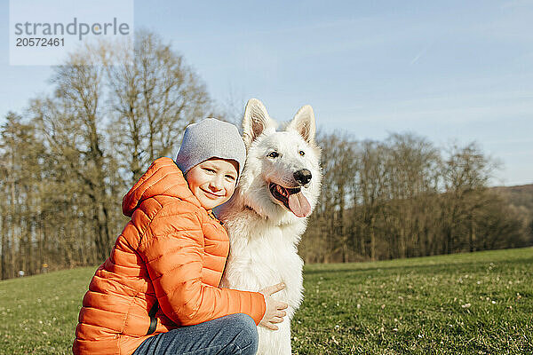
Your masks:
<svg viewBox="0 0 533 355"><path fill-rule="evenodd" d="M300 246L307 263L533 244L533 211L489 188L497 163L474 142L437 147L413 133L319 141L322 194Z"/></svg>

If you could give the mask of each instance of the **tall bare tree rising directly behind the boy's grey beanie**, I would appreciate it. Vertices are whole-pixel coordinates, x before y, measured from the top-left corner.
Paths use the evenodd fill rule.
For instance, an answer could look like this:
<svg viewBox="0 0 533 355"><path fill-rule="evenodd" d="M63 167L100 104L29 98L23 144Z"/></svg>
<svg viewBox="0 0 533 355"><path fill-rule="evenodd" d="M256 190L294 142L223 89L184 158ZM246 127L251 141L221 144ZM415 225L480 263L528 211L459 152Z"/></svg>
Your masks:
<svg viewBox="0 0 533 355"><path fill-rule="evenodd" d="M134 57L107 67L112 120L108 135L134 183L156 158L172 155L185 126L211 109L205 85L179 54L147 31L136 34Z"/></svg>

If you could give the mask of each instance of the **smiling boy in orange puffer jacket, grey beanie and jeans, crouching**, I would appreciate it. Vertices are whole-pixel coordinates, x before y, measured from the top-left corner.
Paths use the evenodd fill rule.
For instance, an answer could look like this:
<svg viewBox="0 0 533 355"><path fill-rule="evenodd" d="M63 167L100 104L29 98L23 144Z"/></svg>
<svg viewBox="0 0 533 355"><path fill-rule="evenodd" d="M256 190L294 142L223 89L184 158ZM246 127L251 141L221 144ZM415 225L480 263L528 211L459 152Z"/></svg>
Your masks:
<svg viewBox="0 0 533 355"><path fill-rule="evenodd" d="M254 354L257 325L287 304L219 288L229 241L211 209L229 200L246 150L233 124L187 126L176 162L159 158L123 198L131 217L84 296L75 354Z"/></svg>

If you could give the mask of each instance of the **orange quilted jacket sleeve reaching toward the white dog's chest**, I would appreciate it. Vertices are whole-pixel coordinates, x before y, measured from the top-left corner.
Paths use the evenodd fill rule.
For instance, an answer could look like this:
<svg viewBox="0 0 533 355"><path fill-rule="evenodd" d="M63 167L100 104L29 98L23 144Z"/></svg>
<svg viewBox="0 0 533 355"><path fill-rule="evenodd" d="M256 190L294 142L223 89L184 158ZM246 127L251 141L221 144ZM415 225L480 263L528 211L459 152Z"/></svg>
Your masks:
<svg viewBox="0 0 533 355"><path fill-rule="evenodd" d="M190 326L233 313L250 315L256 325L263 318L266 305L259 292L202 282L203 232L194 210L165 206L148 226L138 251L163 312L176 324Z"/></svg>

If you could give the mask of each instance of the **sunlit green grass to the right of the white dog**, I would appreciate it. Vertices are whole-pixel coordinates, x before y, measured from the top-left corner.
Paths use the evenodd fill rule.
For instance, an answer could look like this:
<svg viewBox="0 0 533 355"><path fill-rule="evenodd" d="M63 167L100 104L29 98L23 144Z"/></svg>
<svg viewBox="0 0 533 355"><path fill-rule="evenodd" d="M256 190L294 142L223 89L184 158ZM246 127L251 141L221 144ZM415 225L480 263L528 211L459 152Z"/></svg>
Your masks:
<svg viewBox="0 0 533 355"><path fill-rule="evenodd" d="M533 248L306 266L298 354L532 354Z"/></svg>

